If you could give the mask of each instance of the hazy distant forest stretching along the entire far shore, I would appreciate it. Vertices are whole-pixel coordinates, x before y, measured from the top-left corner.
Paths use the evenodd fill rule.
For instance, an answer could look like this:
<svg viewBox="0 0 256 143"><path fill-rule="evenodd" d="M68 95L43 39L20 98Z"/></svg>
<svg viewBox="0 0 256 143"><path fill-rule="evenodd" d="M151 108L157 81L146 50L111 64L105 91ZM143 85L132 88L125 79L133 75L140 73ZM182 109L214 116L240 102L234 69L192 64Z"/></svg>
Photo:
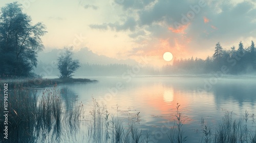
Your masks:
<svg viewBox="0 0 256 143"><path fill-rule="evenodd" d="M158 69L152 66L140 67L136 73L131 66L127 64L91 64L83 63L75 73L75 76L150 76L150 75L200 75L214 74L221 72L223 75L241 75L254 74L256 71L256 51L254 42L244 48L242 42L238 49L235 46L229 50L223 49L218 42L215 47L215 53L205 60L191 57L189 59L174 59L173 65L165 65ZM57 76L58 69L50 69L50 64L38 63L36 74L40 71L51 71L49 76ZM128 74L128 73L131 74Z"/></svg>

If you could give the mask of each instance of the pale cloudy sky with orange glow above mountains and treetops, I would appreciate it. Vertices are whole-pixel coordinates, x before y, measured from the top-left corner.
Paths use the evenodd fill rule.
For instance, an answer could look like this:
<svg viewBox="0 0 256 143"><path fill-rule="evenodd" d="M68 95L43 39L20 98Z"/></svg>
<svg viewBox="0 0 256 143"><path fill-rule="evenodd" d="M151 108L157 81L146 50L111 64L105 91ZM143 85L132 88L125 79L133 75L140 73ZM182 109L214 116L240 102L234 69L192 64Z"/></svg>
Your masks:
<svg viewBox="0 0 256 143"><path fill-rule="evenodd" d="M0 1L3 7L14 1ZM205 59L215 44L229 49L256 41L256 0L22 0L33 23L48 33L45 51L88 47L98 55L117 59L146 57L153 65L174 58Z"/></svg>

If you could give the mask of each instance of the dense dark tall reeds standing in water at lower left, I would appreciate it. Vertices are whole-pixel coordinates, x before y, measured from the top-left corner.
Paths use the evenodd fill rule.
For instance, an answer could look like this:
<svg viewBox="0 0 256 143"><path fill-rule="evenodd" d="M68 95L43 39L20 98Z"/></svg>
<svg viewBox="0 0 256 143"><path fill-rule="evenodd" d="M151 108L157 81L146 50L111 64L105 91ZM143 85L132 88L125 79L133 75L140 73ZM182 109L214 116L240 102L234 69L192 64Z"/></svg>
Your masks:
<svg viewBox="0 0 256 143"><path fill-rule="evenodd" d="M0 99L3 103L3 98ZM61 130L77 130L80 107L64 110L56 86L42 92L39 99L36 91L26 88L9 90L8 94L8 140L1 134L2 142L60 142L68 133ZM3 112L3 108L0 108ZM69 123L69 124L67 124ZM4 130L1 117L0 130Z"/></svg>

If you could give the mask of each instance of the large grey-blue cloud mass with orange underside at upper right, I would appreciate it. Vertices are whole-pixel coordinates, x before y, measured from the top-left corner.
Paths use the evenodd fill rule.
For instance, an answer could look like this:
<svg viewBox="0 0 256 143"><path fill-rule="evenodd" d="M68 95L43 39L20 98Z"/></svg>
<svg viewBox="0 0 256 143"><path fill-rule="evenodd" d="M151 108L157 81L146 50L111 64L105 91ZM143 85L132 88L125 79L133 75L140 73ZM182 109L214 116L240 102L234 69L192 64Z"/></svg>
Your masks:
<svg viewBox="0 0 256 143"><path fill-rule="evenodd" d="M207 5L201 8L194 18L189 19L190 24L188 26L180 25L176 28L174 23L181 21L181 14L186 16L188 11L191 10L189 10L190 6L195 6L196 3L190 3L190 6L182 4L184 8L173 11L171 4L166 1L159 1L152 9L141 11L138 21L142 26L150 27L147 30L151 31L153 37L169 38L171 46L175 47L175 38L178 39L178 43L189 41L184 48L195 54L197 51L208 51L218 41L232 42L239 40L241 37L251 36L256 38L255 22L252 21L256 19L255 14L253 14L256 12L255 6L250 2L230 3L218 4L220 12L216 12L215 9L217 8L212 8L212 5ZM176 6L180 7L181 4ZM170 8L167 9L167 7ZM188 9L185 7L188 7ZM155 29L154 25L158 25L159 28ZM168 27L173 34L161 30L164 27ZM177 34L183 34L183 36Z"/></svg>

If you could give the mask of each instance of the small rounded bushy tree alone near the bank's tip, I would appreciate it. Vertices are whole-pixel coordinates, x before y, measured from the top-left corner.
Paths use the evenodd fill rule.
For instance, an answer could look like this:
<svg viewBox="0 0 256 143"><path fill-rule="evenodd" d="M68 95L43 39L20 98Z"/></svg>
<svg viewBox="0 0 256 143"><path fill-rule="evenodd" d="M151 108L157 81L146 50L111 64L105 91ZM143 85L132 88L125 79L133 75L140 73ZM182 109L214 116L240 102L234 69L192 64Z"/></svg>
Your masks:
<svg viewBox="0 0 256 143"><path fill-rule="evenodd" d="M73 47L65 47L64 52L58 57L60 78L72 78L72 74L80 67L79 60L73 60Z"/></svg>

